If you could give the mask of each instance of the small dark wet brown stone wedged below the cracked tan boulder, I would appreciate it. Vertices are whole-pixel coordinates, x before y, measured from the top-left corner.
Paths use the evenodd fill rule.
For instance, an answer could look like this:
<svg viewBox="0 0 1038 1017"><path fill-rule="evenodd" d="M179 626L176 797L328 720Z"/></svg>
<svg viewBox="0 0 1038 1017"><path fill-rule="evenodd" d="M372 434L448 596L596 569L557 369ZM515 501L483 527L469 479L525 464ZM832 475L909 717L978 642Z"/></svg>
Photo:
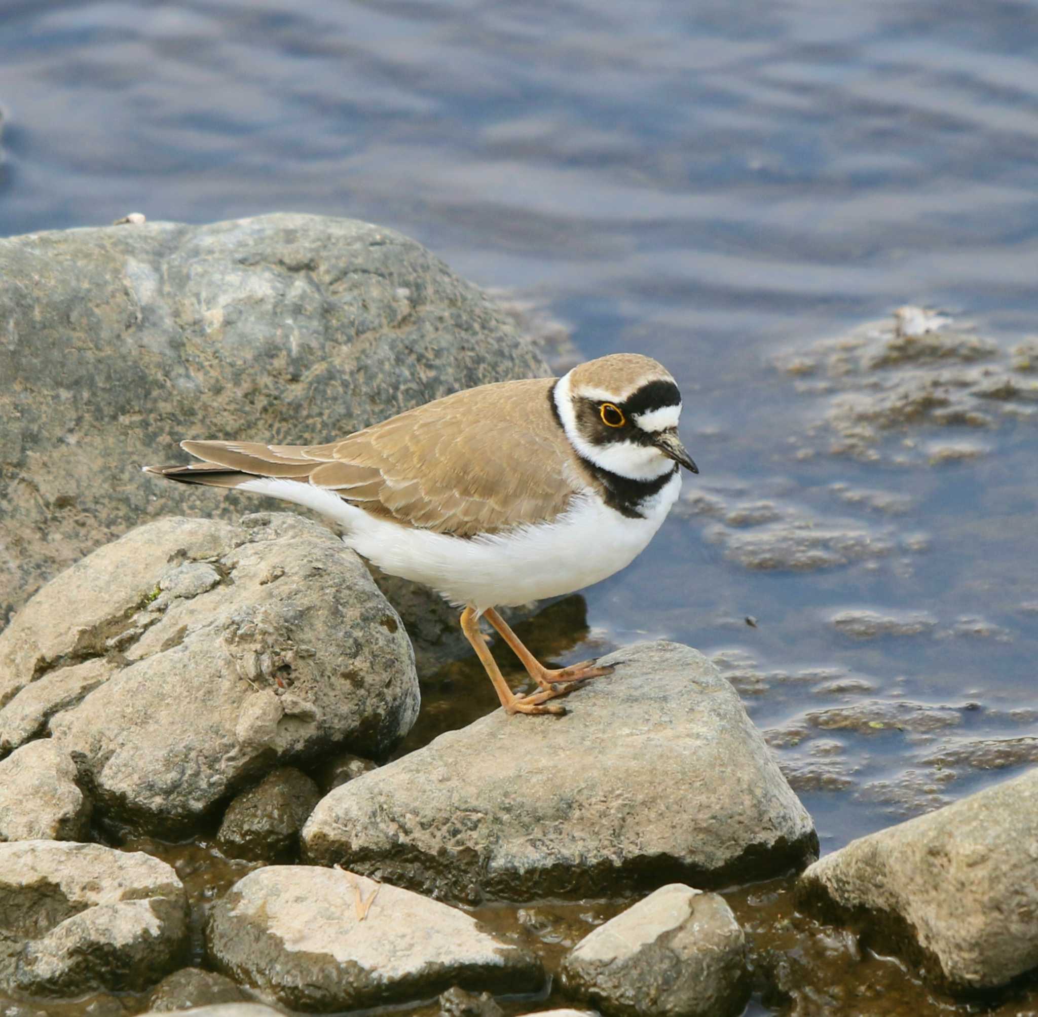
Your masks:
<svg viewBox="0 0 1038 1017"><path fill-rule="evenodd" d="M321 800L318 786L291 766L272 770L227 807L216 842L233 858L275 860L299 846L299 831Z"/></svg>

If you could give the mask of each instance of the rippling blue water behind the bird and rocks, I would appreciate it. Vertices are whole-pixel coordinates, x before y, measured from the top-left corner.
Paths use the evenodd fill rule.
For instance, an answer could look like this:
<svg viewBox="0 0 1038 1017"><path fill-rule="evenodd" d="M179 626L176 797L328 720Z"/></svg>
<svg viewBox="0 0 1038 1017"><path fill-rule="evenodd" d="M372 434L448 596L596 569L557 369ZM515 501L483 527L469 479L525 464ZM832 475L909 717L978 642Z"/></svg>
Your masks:
<svg viewBox="0 0 1038 1017"><path fill-rule="evenodd" d="M1038 402L909 420L870 462L828 450L829 375L783 360L908 303L1000 362L1038 332L1038 5L9 0L0 26L0 233L354 216L534 300L581 356L671 367L685 491L714 501L585 592L575 644L527 634L563 661L716 656L823 851L1038 760ZM740 533L775 515L847 564L749 567ZM932 625L855 638L832 617L858 608ZM465 719L468 666L412 742Z"/></svg>

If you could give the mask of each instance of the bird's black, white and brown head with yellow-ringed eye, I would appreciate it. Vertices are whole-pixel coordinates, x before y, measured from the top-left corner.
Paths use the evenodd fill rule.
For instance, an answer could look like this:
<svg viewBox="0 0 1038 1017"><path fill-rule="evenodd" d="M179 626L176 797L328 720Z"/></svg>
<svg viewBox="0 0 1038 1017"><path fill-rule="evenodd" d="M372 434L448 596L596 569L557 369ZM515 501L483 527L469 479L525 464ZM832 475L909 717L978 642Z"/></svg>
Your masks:
<svg viewBox="0 0 1038 1017"><path fill-rule="evenodd" d="M595 466L632 480L654 480L675 463L699 473L678 438L678 386L651 357L589 360L558 380L553 398L573 447Z"/></svg>

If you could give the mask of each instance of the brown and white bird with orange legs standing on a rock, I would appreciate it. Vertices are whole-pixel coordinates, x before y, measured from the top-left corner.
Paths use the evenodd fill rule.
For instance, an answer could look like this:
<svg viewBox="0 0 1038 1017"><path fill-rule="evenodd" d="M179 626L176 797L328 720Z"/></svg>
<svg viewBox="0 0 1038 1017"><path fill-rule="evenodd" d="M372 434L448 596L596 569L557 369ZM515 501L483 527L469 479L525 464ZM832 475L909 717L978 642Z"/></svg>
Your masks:
<svg viewBox="0 0 1038 1017"><path fill-rule="evenodd" d="M144 471L270 495L334 520L383 572L432 587L508 714L563 714L549 700L612 671L545 667L497 611L590 586L628 566L699 468L678 437L681 394L651 357L617 353L561 378L496 382L426 403L338 441L187 440L187 465ZM512 691L480 629L486 617L537 691Z"/></svg>

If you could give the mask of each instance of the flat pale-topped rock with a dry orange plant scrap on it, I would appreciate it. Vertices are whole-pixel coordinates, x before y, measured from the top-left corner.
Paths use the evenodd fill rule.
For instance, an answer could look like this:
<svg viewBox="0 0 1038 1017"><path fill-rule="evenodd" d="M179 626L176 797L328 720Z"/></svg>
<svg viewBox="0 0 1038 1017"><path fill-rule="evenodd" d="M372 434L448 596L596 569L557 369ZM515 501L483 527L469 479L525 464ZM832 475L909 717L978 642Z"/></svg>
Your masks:
<svg viewBox="0 0 1038 1017"><path fill-rule="evenodd" d="M532 954L464 912L342 870L250 873L214 906L207 938L220 970L308 1012L427 998L453 985L529 992L544 981Z"/></svg>

